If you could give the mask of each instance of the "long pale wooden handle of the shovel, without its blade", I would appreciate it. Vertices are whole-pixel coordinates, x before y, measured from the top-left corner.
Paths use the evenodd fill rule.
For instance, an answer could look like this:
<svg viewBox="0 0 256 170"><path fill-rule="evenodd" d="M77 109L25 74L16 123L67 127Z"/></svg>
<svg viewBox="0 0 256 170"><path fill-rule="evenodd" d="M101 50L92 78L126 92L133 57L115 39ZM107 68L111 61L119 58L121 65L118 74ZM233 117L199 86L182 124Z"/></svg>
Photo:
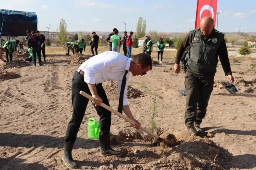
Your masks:
<svg viewBox="0 0 256 170"><path fill-rule="evenodd" d="M84 97L86 97L87 99L91 100L91 101L94 101L94 100L95 100L94 97L92 97L91 95L85 93L84 91L80 91L80 94L83 95ZM135 125L135 124L136 124L135 121L133 121L132 119L126 117L125 115L123 115L123 114L117 112L115 109L109 107L108 105L106 105L106 104L104 104L104 103L101 103L100 106L103 107L103 108L105 108L105 109L107 109L108 111L114 113L115 115L117 115L117 116L123 118L124 120L128 121L130 124L132 124L132 125ZM146 132L147 134L149 134L150 136L152 136L152 137L155 138L155 139L158 139L158 138L159 138L159 136L157 136L156 134L154 134L154 133L152 133L151 131L147 130L145 127L140 126L140 130Z"/></svg>

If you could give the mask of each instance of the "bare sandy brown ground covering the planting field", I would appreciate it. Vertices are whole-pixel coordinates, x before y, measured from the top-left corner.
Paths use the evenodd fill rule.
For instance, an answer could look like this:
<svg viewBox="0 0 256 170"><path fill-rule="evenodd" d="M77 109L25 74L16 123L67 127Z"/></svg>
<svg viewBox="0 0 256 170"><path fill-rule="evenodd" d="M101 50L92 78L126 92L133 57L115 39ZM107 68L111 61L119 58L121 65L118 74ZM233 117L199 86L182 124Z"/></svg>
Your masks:
<svg viewBox="0 0 256 170"><path fill-rule="evenodd" d="M0 169L67 169L61 156L72 116L71 81L78 68L70 61L66 56L47 56L43 67L24 65L1 71L21 77L0 81ZM130 88L140 95L130 93L129 103L134 117L150 128L156 97L156 133L175 134L177 146L153 147L145 133L113 114L112 146L124 154L100 157L98 140L87 136L88 119L99 119L89 104L72 152L78 169L256 169L256 82L252 80L256 70L241 74L255 61L231 63L236 72L233 76L244 79L239 79L242 89L235 95L220 88L218 82L226 81L226 77L218 64L216 87L201 124L213 138L191 138L185 131L185 97L179 93L184 88L184 73L174 74L173 62L174 58L164 59L163 65L154 65L147 75L131 77ZM4 65L0 63L0 68ZM104 86L111 107L116 109L117 92L110 93L109 84ZM140 152L133 153L135 149Z"/></svg>

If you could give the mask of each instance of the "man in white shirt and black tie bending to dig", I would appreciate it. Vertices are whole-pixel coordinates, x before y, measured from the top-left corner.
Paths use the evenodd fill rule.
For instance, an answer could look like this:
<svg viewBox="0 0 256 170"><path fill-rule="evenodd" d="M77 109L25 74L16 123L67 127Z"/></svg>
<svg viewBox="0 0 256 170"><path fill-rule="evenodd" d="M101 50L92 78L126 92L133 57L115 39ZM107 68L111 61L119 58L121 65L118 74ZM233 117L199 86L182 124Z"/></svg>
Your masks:
<svg viewBox="0 0 256 170"><path fill-rule="evenodd" d="M122 113L123 111L128 118L135 121L136 125L133 127L138 129L140 122L133 117L126 98L129 75L131 72L133 76L142 76L147 74L147 71L151 69L152 59L146 53L140 53L127 58L118 52L106 51L81 64L72 79L73 115L67 127L64 154L62 156L62 160L68 168L77 168L71 151L89 102L89 99L79 94L80 90L92 95L96 99L93 103L100 116L100 155L121 156L122 151L115 151L110 146L111 112L100 106L102 102L110 106L102 83L104 81L118 81L120 99L118 112Z"/></svg>

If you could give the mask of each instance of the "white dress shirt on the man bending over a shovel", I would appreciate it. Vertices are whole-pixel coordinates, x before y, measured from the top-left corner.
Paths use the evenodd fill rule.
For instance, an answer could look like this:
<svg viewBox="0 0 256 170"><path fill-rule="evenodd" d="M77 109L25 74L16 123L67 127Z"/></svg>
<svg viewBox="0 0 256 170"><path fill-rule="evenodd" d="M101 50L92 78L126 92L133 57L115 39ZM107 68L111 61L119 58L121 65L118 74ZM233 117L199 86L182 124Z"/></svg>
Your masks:
<svg viewBox="0 0 256 170"><path fill-rule="evenodd" d="M121 84L126 70L129 71L131 59L115 52L105 51L99 55L86 60L79 67L84 71L84 81L90 84L99 84L104 81L118 81L118 99L121 91ZM128 105L126 97L130 72L126 75L126 85L123 95L123 106Z"/></svg>

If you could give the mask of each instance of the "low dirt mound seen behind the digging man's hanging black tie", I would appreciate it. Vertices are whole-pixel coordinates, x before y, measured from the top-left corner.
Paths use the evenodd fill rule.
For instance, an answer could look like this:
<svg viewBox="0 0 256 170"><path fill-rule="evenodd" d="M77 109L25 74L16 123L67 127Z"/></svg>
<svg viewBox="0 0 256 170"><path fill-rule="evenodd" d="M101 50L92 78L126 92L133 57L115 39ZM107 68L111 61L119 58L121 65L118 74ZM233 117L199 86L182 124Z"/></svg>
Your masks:
<svg viewBox="0 0 256 170"><path fill-rule="evenodd" d="M106 81L103 83L103 87L109 100L118 100L118 87L116 81ZM136 99L138 97L144 97L144 94L140 90L128 85L127 98Z"/></svg>

